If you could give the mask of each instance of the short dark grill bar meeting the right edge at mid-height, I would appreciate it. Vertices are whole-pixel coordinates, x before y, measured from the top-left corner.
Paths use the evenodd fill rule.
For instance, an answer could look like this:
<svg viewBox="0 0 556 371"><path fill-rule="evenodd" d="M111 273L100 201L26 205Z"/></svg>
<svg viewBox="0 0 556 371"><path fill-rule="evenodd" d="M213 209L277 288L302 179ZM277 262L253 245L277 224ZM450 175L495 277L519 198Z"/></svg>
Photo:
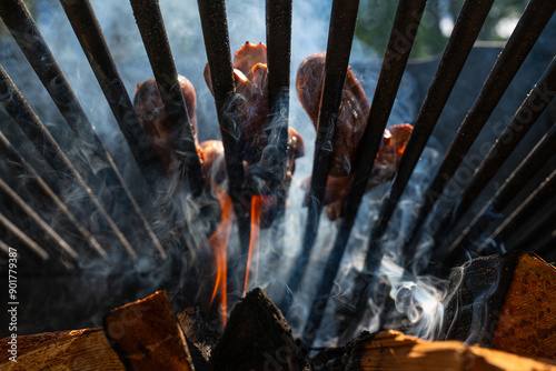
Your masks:
<svg viewBox="0 0 556 371"><path fill-rule="evenodd" d="M490 235L478 247L476 252L483 252L493 241L504 241L505 237L516 229L525 220L529 219L535 211L556 194L556 170L533 191L533 193L519 204L516 210L502 222Z"/></svg>

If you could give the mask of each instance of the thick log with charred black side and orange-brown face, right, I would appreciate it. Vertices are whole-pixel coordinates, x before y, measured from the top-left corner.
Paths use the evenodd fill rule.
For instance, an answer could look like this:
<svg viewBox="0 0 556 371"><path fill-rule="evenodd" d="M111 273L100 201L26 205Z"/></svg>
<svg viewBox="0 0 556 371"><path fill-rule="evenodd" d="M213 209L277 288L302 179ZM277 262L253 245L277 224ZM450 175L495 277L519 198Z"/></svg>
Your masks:
<svg viewBox="0 0 556 371"><path fill-rule="evenodd" d="M440 339L556 359L556 270L516 251L474 259L448 303Z"/></svg>

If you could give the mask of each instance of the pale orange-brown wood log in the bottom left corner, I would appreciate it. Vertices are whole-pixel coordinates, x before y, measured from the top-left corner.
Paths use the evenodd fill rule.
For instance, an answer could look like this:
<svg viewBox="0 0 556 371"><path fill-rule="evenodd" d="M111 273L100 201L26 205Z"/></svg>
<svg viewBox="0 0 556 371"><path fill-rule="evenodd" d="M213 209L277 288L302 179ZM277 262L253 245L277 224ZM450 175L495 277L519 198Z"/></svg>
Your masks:
<svg viewBox="0 0 556 371"><path fill-rule="evenodd" d="M9 354L9 340L10 338L0 340L1 354ZM125 370L102 328L40 333L18 337L17 340L17 362L2 357L0 370Z"/></svg>

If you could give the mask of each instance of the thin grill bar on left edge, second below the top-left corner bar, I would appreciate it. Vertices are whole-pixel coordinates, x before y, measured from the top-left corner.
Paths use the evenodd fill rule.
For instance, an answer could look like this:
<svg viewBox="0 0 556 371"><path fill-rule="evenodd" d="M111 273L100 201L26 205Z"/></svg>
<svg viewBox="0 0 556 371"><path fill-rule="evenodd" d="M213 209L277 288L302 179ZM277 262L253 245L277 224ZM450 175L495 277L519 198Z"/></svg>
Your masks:
<svg viewBox="0 0 556 371"><path fill-rule="evenodd" d="M11 146L8 138L6 138L0 132L0 152L8 161L13 161L19 163L24 171L27 171L39 184L39 187L44 191L46 194L52 200L52 202L63 212L71 224L76 227L81 237L89 243L89 245L95 249L101 257L106 258L107 252L98 243L97 239L89 233L89 231L79 222L79 220L73 215L69 208L60 200L60 198L52 191L52 189L47 184L47 182L39 176L39 173L26 161L26 159ZM22 171L22 172L24 172Z"/></svg>

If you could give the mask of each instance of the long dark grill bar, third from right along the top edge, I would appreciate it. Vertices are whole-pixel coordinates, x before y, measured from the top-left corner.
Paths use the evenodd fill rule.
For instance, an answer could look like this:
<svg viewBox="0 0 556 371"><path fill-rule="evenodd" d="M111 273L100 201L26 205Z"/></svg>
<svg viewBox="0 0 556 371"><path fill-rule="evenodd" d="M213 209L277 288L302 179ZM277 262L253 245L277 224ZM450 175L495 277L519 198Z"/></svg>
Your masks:
<svg viewBox="0 0 556 371"><path fill-rule="evenodd" d="M304 333L304 340L309 347L312 345L316 330L322 320L324 313L318 308L326 307L334 280L338 273L426 3L426 0L401 0L398 3L367 126L356 156L355 176L346 201L344 218L326 262L322 279L317 287L316 300L309 311L309 319ZM400 42L401 40L405 42Z"/></svg>

